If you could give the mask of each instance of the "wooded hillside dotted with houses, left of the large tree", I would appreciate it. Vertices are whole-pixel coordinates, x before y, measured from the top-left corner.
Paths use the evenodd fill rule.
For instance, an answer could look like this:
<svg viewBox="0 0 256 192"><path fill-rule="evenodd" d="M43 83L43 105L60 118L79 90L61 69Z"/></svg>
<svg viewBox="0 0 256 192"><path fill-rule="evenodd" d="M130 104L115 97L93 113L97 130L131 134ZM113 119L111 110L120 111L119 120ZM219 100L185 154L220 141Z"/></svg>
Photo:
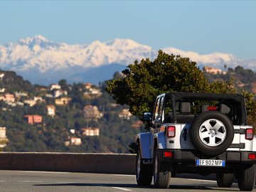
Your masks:
<svg viewBox="0 0 256 192"><path fill-rule="evenodd" d="M1 70L0 127L4 151L128 153L141 122L89 83L32 85ZM1 138L0 138L1 139Z"/></svg>

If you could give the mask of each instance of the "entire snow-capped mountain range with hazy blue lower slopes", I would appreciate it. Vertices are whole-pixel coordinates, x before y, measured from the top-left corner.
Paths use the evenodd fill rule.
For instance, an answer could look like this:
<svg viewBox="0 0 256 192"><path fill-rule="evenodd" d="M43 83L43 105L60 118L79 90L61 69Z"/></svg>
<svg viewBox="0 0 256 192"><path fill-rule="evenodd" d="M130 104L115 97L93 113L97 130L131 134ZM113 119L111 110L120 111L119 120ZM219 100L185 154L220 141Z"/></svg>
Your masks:
<svg viewBox="0 0 256 192"><path fill-rule="evenodd" d="M211 65L218 68L244 68L256 70L256 58L240 59L229 53L201 55L177 48L162 48L191 58L199 66ZM88 45L55 43L43 36L22 38L15 43L0 46L0 68L14 70L18 75L36 84L49 85L66 79L68 82L98 82L112 78L115 71L142 58L156 58L157 50L130 39L93 41Z"/></svg>

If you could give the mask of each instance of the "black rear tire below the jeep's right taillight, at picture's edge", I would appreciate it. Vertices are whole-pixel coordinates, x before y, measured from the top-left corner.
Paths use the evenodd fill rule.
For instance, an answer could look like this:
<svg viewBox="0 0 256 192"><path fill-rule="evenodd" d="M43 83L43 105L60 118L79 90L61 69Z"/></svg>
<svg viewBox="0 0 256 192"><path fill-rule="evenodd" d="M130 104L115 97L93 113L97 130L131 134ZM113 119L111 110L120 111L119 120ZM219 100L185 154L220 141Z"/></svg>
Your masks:
<svg viewBox="0 0 256 192"><path fill-rule="evenodd" d="M252 191L255 186L256 166L249 165L240 169L238 187L241 191Z"/></svg>

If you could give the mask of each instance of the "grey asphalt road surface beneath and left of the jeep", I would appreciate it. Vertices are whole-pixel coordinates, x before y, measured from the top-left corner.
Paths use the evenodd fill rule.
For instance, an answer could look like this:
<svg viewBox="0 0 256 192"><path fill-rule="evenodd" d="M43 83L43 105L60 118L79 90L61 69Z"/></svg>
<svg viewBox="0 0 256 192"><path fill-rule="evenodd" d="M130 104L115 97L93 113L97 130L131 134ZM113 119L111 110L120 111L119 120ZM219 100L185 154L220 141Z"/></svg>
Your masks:
<svg viewBox="0 0 256 192"><path fill-rule="evenodd" d="M218 188L213 180L195 178L171 178L169 189L139 188L135 176L116 174L85 174L45 171L0 171L2 192L80 192L80 191L239 191L238 184L232 188ZM254 190L256 191L256 189Z"/></svg>

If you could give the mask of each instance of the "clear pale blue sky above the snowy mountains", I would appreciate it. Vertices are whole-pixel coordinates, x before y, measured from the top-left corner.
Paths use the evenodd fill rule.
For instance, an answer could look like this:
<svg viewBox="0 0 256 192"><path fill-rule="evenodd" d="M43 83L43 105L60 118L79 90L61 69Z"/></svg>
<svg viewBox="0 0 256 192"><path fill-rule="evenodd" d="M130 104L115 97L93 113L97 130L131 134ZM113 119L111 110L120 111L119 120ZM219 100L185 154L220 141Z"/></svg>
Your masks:
<svg viewBox="0 0 256 192"><path fill-rule="evenodd" d="M256 1L0 1L0 45L19 38L87 44L130 38L256 58Z"/></svg>

